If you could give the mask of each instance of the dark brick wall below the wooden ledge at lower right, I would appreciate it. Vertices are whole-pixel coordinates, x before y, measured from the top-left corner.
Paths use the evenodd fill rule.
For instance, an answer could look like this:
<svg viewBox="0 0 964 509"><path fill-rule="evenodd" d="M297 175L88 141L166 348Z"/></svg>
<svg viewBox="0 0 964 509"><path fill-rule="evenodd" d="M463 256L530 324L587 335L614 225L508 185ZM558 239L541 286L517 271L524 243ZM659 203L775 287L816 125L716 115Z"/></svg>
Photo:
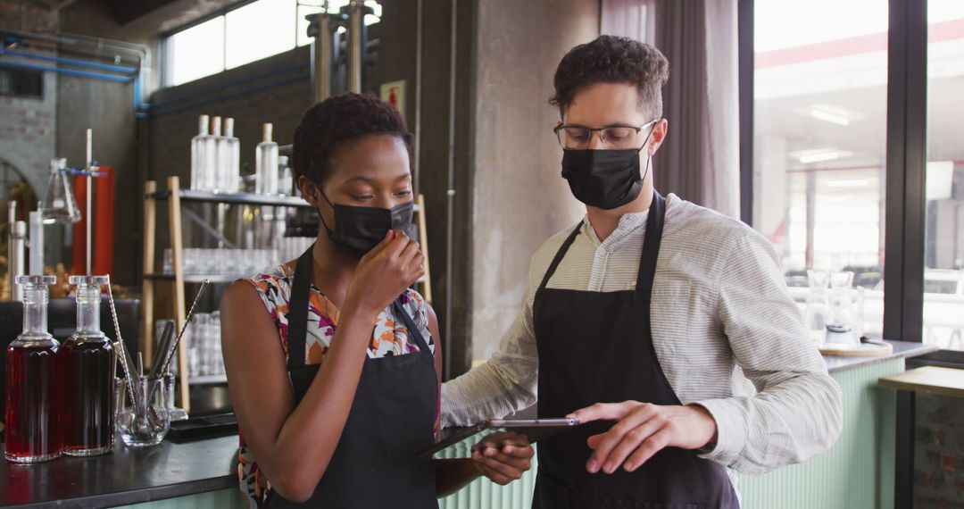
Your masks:
<svg viewBox="0 0 964 509"><path fill-rule="evenodd" d="M964 507L964 399L917 397L914 506Z"/></svg>

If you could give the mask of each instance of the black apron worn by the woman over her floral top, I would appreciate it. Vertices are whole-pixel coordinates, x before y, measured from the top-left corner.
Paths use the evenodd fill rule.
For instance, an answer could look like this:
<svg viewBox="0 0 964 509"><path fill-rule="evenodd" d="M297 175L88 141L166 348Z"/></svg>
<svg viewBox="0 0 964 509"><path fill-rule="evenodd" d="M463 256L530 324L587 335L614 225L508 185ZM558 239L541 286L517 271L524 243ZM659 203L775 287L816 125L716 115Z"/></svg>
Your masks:
<svg viewBox="0 0 964 509"><path fill-rule="evenodd" d="M305 363L311 269L308 248L298 258L288 312L288 376L296 406L319 367ZM418 353L365 359L352 410L314 495L298 504L272 491L264 507L439 507L435 465L417 458L420 450L435 442L432 428L439 381L432 351L402 308L402 299L391 307L405 322Z"/></svg>

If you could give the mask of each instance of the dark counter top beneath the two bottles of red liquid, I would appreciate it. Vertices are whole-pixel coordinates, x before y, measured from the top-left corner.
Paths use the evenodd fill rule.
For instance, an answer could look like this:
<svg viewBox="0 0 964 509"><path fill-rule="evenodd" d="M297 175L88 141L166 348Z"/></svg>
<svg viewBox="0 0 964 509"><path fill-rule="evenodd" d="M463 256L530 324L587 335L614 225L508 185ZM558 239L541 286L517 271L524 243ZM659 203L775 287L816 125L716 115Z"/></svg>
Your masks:
<svg viewBox="0 0 964 509"><path fill-rule="evenodd" d="M125 447L17 465L0 458L0 506L111 507L237 487L237 436Z"/></svg>

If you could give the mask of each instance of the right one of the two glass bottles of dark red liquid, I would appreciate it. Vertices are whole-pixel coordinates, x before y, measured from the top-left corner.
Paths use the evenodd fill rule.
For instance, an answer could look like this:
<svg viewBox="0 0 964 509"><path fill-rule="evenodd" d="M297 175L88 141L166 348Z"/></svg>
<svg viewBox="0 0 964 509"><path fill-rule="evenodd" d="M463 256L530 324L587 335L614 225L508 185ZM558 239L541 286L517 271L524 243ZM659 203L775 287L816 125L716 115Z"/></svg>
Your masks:
<svg viewBox="0 0 964 509"><path fill-rule="evenodd" d="M77 285L77 332L61 345L64 454L94 456L114 447L114 347L100 332L100 288L107 276L70 276Z"/></svg>

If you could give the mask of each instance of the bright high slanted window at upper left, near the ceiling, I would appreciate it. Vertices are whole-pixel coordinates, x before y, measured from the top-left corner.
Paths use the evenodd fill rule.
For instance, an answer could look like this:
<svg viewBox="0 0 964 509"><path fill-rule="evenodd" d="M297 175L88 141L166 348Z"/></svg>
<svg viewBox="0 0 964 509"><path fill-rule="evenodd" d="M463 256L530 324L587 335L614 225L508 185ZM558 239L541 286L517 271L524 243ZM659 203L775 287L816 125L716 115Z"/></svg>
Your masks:
<svg viewBox="0 0 964 509"><path fill-rule="evenodd" d="M306 0L256 0L175 32L164 40L165 86L180 85L303 46L308 38L310 13L320 13L320 2ZM348 0L329 2L337 12ZM382 6L366 0L372 10L365 25L378 23ZM344 28L339 28L344 32Z"/></svg>

